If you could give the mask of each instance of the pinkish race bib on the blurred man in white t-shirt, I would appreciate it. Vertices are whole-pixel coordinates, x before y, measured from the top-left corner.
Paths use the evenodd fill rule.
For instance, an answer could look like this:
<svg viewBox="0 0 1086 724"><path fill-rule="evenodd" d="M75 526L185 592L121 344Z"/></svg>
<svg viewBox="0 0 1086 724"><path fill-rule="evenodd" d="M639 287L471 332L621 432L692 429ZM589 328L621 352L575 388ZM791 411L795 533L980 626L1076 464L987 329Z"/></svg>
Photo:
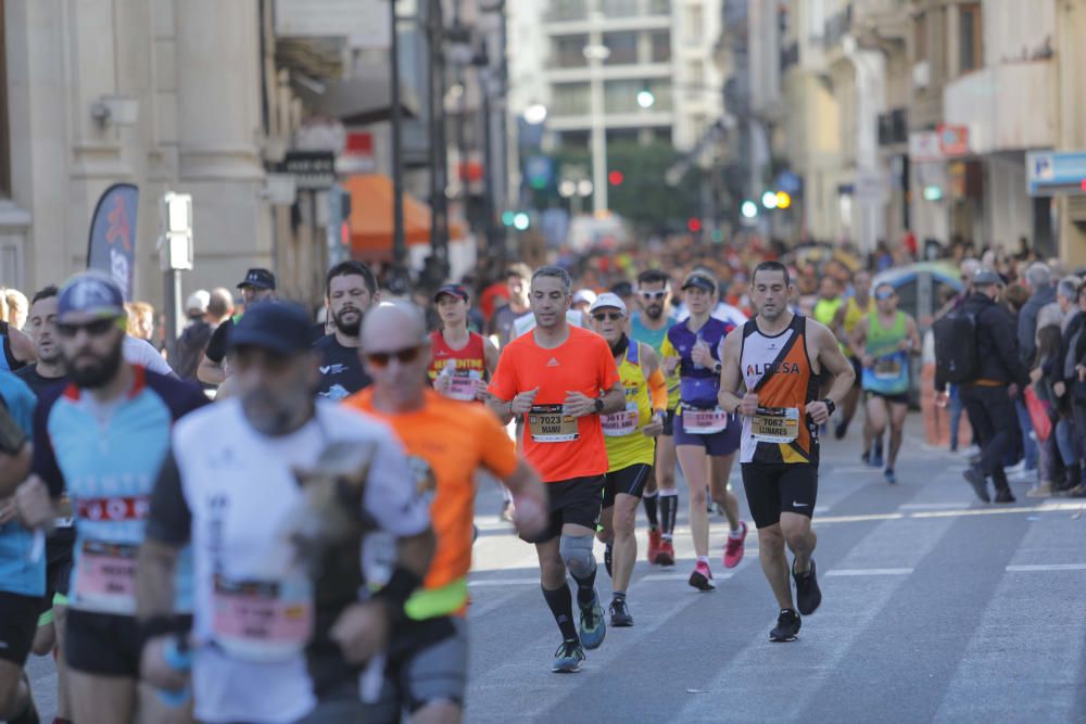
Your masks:
<svg viewBox="0 0 1086 724"><path fill-rule="evenodd" d="M313 633L313 590L305 580L285 584L216 575L213 600L215 643L245 661L292 659Z"/></svg>

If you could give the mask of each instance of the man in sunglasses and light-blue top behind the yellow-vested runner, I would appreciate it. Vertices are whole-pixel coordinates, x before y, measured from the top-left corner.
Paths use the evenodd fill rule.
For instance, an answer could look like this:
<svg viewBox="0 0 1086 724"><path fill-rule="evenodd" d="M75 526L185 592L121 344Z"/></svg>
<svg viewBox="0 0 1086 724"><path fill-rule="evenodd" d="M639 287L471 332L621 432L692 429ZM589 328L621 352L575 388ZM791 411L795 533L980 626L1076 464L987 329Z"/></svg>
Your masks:
<svg viewBox="0 0 1086 724"><path fill-rule="evenodd" d="M659 269L649 269L637 276L637 304L640 312L630 317L630 336L653 348L657 360L662 359L664 340L674 320L671 312L671 280ZM679 511L679 491L675 488L675 444L672 430L675 407L679 406L679 373L666 378L668 405L664 417L664 429L656 439L655 475L649 477L642 500L648 518L649 563L674 566L675 549L672 535ZM657 520L657 496L659 497L659 520Z"/></svg>

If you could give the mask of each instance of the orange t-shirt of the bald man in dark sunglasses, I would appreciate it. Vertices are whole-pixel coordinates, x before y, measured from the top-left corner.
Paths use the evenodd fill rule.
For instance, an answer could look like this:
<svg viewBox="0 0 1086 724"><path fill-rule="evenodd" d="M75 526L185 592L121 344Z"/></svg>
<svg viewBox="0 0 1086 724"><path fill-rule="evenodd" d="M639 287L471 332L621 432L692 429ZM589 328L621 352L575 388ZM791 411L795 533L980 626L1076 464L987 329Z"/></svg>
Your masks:
<svg viewBox="0 0 1086 724"><path fill-rule="evenodd" d="M344 405L368 412L392 425L407 449L424 494L433 496L430 519L438 546L424 583L440 588L468 574L471 568L475 472L485 468L498 478L517 469L513 441L493 412L482 405L465 405L426 391L421 409L386 415L374 409L374 389L348 397Z"/></svg>

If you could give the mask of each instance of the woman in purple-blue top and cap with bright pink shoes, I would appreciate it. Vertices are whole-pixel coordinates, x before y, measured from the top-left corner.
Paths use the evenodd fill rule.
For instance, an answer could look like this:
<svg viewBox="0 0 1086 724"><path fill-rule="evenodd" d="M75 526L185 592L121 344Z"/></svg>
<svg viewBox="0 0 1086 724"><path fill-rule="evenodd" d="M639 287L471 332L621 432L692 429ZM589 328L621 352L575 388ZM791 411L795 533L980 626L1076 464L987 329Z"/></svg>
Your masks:
<svg viewBox="0 0 1086 724"><path fill-rule="evenodd" d="M668 330L664 368L666 372L678 369L680 376L675 452L690 491L690 529L697 556L690 585L698 590L712 590L716 586L709 568L707 490L728 518L730 531L724 546L724 568L735 568L743 560L747 534L746 523L740 520L740 501L728 490L732 462L740 447L740 428L735 417L717 405L720 351L735 327L709 316L717 294L717 280L707 272L686 275L682 292L690 318Z"/></svg>

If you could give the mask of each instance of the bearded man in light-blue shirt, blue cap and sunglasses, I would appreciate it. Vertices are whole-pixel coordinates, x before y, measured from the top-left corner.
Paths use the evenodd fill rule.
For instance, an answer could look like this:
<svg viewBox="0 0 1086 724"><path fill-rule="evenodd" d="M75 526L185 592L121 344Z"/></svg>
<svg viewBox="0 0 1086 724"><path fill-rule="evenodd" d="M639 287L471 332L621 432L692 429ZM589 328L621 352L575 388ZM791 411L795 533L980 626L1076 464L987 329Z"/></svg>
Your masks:
<svg viewBox="0 0 1086 724"><path fill-rule="evenodd" d="M68 593L68 699L80 722L188 721L139 687L136 552L175 420L207 403L197 388L125 360L121 288L99 271L61 289L56 333L71 383L50 388L34 417L34 462L15 503L29 528L51 529L64 493L75 519ZM177 610L191 610L179 567ZM173 622L187 626L184 618Z"/></svg>

